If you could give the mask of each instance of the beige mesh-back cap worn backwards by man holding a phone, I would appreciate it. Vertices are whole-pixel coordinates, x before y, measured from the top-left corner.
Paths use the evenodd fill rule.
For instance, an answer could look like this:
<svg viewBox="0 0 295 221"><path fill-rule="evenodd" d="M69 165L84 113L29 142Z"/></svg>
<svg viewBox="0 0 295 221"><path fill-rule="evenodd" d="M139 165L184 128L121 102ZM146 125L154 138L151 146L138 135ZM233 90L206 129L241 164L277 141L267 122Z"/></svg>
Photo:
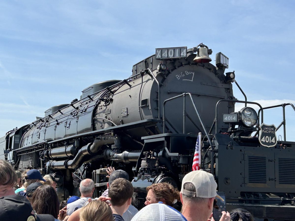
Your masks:
<svg viewBox="0 0 295 221"><path fill-rule="evenodd" d="M183 186L186 183L193 184L196 188L196 192L184 189ZM215 182L213 175L203 170L189 172L183 177L181 184L181 193L183 195L200 198L216 197L224 201L224 199L216 193L216 189L217 183Z"/></svg>

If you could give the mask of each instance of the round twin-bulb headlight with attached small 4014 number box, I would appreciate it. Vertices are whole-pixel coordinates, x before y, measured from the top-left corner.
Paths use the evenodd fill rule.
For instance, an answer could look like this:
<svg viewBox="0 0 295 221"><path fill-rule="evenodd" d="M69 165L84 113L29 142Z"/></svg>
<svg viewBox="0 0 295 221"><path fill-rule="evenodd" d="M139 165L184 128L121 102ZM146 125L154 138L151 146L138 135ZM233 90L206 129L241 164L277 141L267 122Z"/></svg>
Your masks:
<svg viewBox="0 0 295 221"><path fill-rule="evenodd" d="M245 107L237 113L223 114L223 122L231 124L240 124L247 128L253 127L257 124L257 113L253 108Z"/></svg>

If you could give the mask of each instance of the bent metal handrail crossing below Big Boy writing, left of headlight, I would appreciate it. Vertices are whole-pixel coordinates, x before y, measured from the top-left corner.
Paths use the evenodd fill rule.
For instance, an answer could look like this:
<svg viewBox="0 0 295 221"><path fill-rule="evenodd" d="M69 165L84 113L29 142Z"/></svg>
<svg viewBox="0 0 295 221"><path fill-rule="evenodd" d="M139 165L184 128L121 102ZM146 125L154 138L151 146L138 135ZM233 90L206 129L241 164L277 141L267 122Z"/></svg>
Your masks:
<svg viewBox="0 0 295 221"><path fill-rule="evenodd" d="M202 118L201 118L201 116L200 116L200 113L199 113L199 110L198 110L198 108L196 107L196 104L195 104L195 102L194 102L194 99L193 99L193 97L191 96L191 93L183 93L183 94L181 94L181 95L177 95L177 96L175 96L175 97L173 97L173 98L169 98L169 99L167 99L167 100L165 100L164 102L163 102L163 133L165 133L165 121L166 121L166 119L165 119L165 104L168 102L168 101L170 101L170 100L174 100L174 99L176 99L176 98L180 98L180 97L183 97L183 133L185 133L185 126L186 126L186 95L189 95L189 97L191 98L191 103L193 104L193 106L194 106L194 109L195 109L195 111L196 111L196 114L197 114L197 116L198 116L198 118L199 118L199 121L201 122L201 125L202 125L202 128L203 128L203 130L204 130L204 132L205 132L205 134L206 134L206 136L207 136L207 138L208 138L208 141L209 141L209 144L210 144L210 146L211 146L211 162L212 162L212 166L211 166L211 173L212 174L214 174L214 146L213 146L213 144L212 144L212 141L211 141L211 139L210 139L210 137L209 137L209 134L208 134L208 132L207 132L207 130L206 130L206 127L205 127L205 124L204 124L204 122L202 121Z"/></svg>

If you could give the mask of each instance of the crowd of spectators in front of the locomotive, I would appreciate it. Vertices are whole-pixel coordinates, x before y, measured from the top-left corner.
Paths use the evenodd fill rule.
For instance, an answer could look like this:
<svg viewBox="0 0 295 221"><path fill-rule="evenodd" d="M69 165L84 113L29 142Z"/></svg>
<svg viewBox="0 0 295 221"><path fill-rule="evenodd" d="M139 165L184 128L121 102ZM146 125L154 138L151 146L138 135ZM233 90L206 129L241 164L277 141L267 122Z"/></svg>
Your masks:
<svg viewBox="0 0 295 221"><path fill-rule="evenodd" d="M72 196L59 202L52 174L42 177L31 169L15 171L0 160L0 220L19 221L214 221L212 210L217 184L206 171L191 171L182 180L179 192L171 184L158 183L146 188L145 207L138 211L133 205L134 188L123 170L108 168L107 189L93 199L95 190L91 179L80 183L81 197ZM174 208L181 202L181 212ZM222 212L221 221L253 221L247 210Z"/></svg>

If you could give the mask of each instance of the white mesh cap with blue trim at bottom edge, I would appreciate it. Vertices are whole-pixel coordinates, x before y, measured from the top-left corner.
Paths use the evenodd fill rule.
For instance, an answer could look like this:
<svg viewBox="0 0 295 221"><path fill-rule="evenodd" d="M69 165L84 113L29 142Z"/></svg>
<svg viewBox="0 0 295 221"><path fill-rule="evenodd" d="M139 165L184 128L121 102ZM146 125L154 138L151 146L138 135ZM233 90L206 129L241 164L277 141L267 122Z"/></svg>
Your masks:
<svg viewBox="0 0 295 221"><path fill-rule="evenodd" d="M143 207L131 221L187 221L174 208L163 203L153 203Z"/></svg>

